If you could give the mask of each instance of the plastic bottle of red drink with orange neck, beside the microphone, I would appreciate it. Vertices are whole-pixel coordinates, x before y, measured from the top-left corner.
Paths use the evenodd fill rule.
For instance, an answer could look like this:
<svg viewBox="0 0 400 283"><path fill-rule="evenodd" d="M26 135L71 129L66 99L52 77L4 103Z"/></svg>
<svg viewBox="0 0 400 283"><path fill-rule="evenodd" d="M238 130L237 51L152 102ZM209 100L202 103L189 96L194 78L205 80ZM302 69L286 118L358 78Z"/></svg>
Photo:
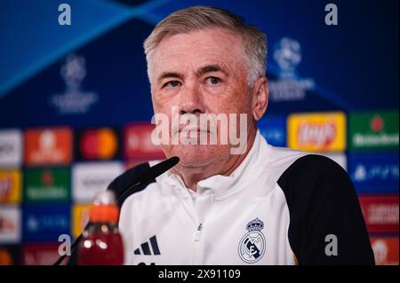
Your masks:
<svg viewBox="0 0 400 283"><path fill-rule="evenodd" d="M99 193L90 208L90 222L79 243L79 264L121 265L124 243L118 232L119 209L114 193Z"/></svg>

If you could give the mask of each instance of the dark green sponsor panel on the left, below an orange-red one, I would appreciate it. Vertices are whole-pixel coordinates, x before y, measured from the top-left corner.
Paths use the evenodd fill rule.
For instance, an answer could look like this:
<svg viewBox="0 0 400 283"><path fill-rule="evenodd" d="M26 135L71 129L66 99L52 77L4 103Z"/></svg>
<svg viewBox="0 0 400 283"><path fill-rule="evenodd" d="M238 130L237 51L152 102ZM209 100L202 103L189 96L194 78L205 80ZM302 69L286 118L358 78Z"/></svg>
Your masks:
<svg viewBox="0 0 400 283"><path fill-rule="evenodd" d="M26 169L24 201L68 201L70 177L68 168Z"/></svg>

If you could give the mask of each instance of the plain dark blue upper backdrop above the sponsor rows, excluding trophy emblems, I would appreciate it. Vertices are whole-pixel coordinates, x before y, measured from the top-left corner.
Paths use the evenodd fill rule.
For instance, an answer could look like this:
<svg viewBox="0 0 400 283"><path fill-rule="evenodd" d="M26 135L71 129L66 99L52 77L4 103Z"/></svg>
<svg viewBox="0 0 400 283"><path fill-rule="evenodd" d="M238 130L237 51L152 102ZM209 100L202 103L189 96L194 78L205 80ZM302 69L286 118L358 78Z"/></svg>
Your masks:
<svg viewBox="0 0 400 283"><path fill-rule="evenodd" d="M276 59L282 39L299 44L292 75L300 82L297 92L305 94L290 99L272 91L268 113L396 109L398 1L335 3L338 26L325 25L326 3L316 0L70 0L72 24L60 26L59 1L3 0L0 127L148 121L152 108L143 40L158 20L195 4L227 8L267 33L270 80L282 75ZM95 99L84 112L60 114L52 101L66 91L60 68L71 52L84 58L81 90Z"/></svg>

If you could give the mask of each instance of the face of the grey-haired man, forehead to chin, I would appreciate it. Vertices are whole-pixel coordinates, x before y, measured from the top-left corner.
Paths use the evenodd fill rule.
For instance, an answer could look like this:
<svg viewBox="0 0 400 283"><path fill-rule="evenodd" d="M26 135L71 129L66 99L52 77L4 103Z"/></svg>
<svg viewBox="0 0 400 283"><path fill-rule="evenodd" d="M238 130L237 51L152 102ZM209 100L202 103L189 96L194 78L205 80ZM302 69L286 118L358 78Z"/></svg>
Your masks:
<svg viewBox="0 0 400 283"><path fill-rule="evenodd" d="M240 36L220 28L209 28L183 35L170 35L153 51L149 62L151 93L155 114L166 114L172 122L172 106L179 114L247 114L252 121L252 94ZM230 121L231 122L231 121ZM180 130L184 125L180 125ZM170 128L171 129L171 128ZM237 137L239 131L236 130ZM174 135L190 132L170 131ZM200 135L200 131L197 132ZM177 155L180 165L201 167L227 161L228 145L163 145L167 157ZM212 135L208 132L207 135ZM246 133L247 139L247 133ZM170 139L171 140L171 139Z"/></svg>

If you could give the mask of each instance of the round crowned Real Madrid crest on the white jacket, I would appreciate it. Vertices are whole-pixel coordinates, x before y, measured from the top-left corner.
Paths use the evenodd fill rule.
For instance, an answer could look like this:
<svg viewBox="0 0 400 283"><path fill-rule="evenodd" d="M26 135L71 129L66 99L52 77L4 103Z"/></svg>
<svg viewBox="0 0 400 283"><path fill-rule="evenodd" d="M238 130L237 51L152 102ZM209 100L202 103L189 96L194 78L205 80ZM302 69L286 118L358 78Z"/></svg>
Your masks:
<svg viewBox="0 0 400 283"><path fill-rule="evenodd" d="M239 243L239 256L245 263L258 262L265 252L264 223L257 217L246 225L247 233Z"/></svg>

